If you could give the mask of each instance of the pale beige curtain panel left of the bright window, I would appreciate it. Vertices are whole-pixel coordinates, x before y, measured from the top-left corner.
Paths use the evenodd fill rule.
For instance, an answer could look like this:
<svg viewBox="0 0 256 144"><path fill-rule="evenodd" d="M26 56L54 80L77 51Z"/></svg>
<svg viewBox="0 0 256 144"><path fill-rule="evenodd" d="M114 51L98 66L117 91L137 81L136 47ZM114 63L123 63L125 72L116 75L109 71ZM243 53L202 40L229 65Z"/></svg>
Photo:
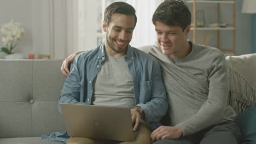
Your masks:
<svg viewBox="0 0 256 144"><path fill-rule="evenodd" d="M32 52L66 58L77 51L77 1L33 0Z"/></svg>

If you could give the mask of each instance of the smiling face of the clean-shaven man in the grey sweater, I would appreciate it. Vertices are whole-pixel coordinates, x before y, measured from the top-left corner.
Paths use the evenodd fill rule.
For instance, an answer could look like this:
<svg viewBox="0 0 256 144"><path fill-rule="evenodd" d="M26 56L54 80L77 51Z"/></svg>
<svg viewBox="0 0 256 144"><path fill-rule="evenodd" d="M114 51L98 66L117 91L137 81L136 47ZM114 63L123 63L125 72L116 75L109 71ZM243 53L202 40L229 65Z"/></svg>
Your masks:
<svg viewBox="0 0 256 144"><path fill-rule="evenodd" d="M162 53L171 57L185 57L190 52L188 33L190 25L182 31L179 26L168 26L163 22L155 22L155 31Z"/></svg>

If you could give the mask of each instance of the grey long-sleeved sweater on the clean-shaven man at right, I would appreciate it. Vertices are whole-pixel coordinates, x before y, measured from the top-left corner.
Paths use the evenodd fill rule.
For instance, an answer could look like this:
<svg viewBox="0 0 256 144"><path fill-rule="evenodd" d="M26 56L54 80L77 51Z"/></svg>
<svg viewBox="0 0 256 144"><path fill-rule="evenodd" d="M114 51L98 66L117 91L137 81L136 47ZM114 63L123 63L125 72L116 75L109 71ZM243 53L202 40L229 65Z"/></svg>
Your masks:
<svg viewBox="0 0 256 144"><path fill-rule="evenodd" d="M233 121L235 112L227 102L228 67L221 51L193 44L188 56L171 58L158 43L141 50L158 59L170 104L170 125L181 127L183 136Z"/></svg>

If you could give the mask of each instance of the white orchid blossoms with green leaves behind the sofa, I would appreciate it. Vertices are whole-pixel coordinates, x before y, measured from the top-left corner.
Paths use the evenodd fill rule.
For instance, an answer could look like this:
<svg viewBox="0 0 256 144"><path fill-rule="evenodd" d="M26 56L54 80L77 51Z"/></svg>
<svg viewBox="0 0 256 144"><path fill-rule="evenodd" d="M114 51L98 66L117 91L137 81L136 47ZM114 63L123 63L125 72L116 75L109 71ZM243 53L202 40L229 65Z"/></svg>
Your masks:
<svg viewBox="0 0 256 144"><path fill-rule="evenodd" d="M8 55L13 53L11 51L17 45L17 40L20 40L22 35L25 33L21 26L21 22L13 22L13 20L8 23L4 23L1 26L1 33L3 34L2 41L5 45L5 47L1 48L2 52L7 53Z"/></svg>

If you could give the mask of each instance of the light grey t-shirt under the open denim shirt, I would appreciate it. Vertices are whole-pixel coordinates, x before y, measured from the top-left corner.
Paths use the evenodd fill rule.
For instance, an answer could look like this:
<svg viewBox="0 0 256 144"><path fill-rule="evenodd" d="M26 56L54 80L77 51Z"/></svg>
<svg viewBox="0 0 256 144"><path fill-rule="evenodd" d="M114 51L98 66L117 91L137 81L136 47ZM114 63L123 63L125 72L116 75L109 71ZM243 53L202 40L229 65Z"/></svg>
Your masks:
<svg viewBox="0 0 256 144"><path fill-rule="evenodd" d="M125 56L106 60L94 81L92 104L109 106L135 106L133 81L125 62Z"/></svg>

